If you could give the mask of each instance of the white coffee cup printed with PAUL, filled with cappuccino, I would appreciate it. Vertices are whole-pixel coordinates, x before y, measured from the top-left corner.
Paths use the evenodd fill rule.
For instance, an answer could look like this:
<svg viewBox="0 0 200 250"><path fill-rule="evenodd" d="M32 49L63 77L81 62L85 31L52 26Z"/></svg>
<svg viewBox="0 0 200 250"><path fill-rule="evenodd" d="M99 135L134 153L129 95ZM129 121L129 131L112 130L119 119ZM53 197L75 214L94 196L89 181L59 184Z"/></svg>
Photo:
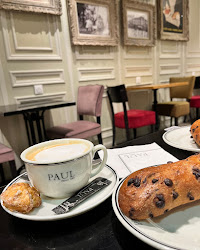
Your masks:
<svg viewBox="0 0 200 250"><path fill-rule="evenodd" d="M93 165L95 152L103 160ZM83 188L106 164L107 149L84 139L58 139L36 144L21 153L31 184L52 198L67 198Z"/></svg>

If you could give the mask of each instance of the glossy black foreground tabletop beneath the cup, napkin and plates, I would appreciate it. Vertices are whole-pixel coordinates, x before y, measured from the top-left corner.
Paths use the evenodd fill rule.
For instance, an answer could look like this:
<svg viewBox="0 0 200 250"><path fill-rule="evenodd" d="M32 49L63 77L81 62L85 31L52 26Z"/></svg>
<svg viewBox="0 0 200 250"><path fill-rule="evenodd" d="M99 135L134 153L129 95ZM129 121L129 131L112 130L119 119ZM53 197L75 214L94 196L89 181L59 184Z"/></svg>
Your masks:
<svg viewBox="0 0 200 250"><path fill-rule="evenodd" d="M193 154L167 145L162 140L163 133L158 131L118 147L156 142L178 159ZM6 213L1 207L0 221L1 249L153 249L119 222L112 209L111 197L85 214L60 221L22 220Z"/></svg>

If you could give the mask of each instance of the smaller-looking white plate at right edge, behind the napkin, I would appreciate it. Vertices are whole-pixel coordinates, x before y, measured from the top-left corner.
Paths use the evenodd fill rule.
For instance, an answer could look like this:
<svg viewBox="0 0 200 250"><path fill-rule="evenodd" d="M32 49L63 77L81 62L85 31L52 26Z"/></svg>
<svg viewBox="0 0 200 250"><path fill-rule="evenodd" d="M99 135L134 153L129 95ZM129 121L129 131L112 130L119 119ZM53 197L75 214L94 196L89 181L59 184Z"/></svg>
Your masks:
<svg viewBox="0 0 200 250"><path fill-rule="evenodd" d="M163 140L170 146L200 152L199 146L191 138L190 126L179 127L174 130L169 130L163 134Z"/></svg>

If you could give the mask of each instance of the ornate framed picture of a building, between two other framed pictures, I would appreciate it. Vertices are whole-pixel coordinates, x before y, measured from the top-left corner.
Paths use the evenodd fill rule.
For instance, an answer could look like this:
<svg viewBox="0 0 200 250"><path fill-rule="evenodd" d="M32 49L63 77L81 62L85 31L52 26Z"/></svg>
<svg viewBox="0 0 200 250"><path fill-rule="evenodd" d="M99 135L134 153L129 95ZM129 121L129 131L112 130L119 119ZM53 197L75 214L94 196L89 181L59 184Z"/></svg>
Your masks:
<svg viewBox="0 0 200 250"><path fill-rule="evenodd" d="M155 7L150 4L123 0L124 45L154 46L156 39Z"/></svg>

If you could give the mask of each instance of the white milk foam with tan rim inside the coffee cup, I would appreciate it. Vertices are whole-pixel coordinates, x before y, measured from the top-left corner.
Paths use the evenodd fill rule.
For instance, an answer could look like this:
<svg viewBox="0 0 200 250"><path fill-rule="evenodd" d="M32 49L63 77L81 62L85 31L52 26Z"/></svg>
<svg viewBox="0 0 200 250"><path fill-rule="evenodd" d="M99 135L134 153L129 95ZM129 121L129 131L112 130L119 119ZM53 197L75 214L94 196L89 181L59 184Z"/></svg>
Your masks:
<svg viewBox="0 0 200 250"><path fill-rule="evenodd" d="M43 147L36 147L26 154L26 159L35 162L60 162L82 155L90 149L85 142L69 141L68 143L51 143Z"/></svg>

